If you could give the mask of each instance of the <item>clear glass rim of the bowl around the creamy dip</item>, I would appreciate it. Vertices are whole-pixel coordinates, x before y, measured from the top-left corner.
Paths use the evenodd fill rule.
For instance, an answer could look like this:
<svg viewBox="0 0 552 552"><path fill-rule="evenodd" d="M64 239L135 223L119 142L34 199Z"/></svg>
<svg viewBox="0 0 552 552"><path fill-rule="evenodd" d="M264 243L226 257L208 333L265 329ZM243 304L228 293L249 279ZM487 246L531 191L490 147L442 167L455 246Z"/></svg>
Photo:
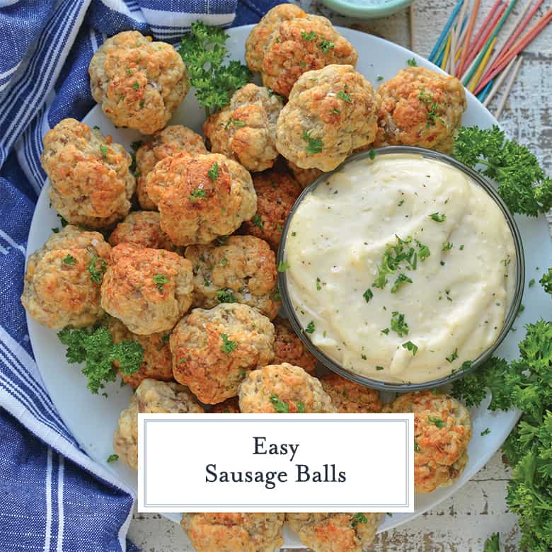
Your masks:
<svg viewBox="0 0 552 552"><path fill-rule="evenodd" d="M416 384L388 383L386 381L380 381L378 379L374 379L368 376L363 376L362 374L355 374L354 372L350 372L349 370L345 369L340 364L338 364L338 362L335 362L335 360L328 357L326 353L318 349L318 347L316 347L316 345L314 345L311 342L311 340L306 337L304 331L302 330L301 324L299 323L299 320L295 315L295 311L292 306L292 301L287 291L287 271L286 270L282 272L278 272L278 289L280 289L282 306L284 308L284 311L287 314L287 318L289 320L289 323L292 325L292 328L297 333L297 335L299 335L299 338L301 339L302 343L304 343L304 345L309 350L309 352L311 352L311 354L314 355L316 360L318 360L318 362L321 362L321 364L323 364L325 367L328 367L332 372L335 372L340 376L350 379L350 381L354 381L357 384L362 384L367 387L379 389L380 391L398 391L398 392L424 391L426 389L432 389L433 387L439 387L439 386L444 386L446 384L450 384L453 381L456 381L457 379L461 379L467 374L471 374L471 372L474 372L475 370L483 366L483 364L485 364L485 362L491 357L491 355L493 355L493 352L495 352L495 350L505 339L506 335L510 332L510 328L512 328L512 324L514 323L514 320L518 314L519 306L522 304L524 283L525 283L525 255L524 255L521 234L519 233L519 229L517 227L517 223L514 220L513 214L506 206L504 200L502 200L502 197L498 195L498 191L495 189L495 187L490 182L490 180L485 178L481 173L478 173L477 171L475 171L473 168L470 168L464 165L464 163L461 163L460 161L458 161L457 159L454 159L454 157L448 156L447 154L442 154L440 151L434 151L432 149L420 148L416 146L385 146L381 148L373 148L373 149L360 151L357 154L352 154L351 156L347 157L347 159L345 159L343 163L340 163L338 167L333 169L333 171L322 173L320 176L318 176L318 178L316 178L314 182L312 182L306 188L304 188L304 190L301 192L299 197L297 197L297 200L295 201L292 209L289 212L289 216L287 217L287 221L284 224L284 228L282 229L282 238L280 240L280 247L278 248L278 253L277 253L277 263L278 265L280 265L280 263L284 262L284 258L286 256L285 245L287 241L287 233L289 230L289 225L292 222L293 215L295 214L295 212L297 212L299 205L301 205L301 202L304 200L306 196L308 196L311 192L313 192L318 187L318 185L325 182L327 178L332 176L334 173L340 171L345 165L349 163L353 163L361 159L366 159L366 158L374 159L376 156L391 155L391 154L421 155L425 159L441 161L441 162L447 163L449 166L452 166L458 169L459 171L462 171L469 178L471 178L471 180L473 180L474 183L481 186L481 188L483 188L483 190L485 190L485 192L487 192L488 195L490 195L490 197L495 201L495 203L500 208L500 211L504 215L506 222L508 224L508 227L510 228L512 239L514 241L514 250L516 253L516 258L515 258L516 283L514 285L514 292L512 297L512 303L510 304L510 309L508 309L507 315L505 317L504 325L502 326L502 330L500 330L500 333L498 335L498 338L495 340L495 343L493 343L493 345L488 347L487 350L483 351L481 355L479 355L475 360L473 360L473 362L471 362L471 365L468 368L458 369L455 372L452 372L451 374L444 376L442 378L432 379L430 381L425 381L425 382L416 383Z"/></svg>

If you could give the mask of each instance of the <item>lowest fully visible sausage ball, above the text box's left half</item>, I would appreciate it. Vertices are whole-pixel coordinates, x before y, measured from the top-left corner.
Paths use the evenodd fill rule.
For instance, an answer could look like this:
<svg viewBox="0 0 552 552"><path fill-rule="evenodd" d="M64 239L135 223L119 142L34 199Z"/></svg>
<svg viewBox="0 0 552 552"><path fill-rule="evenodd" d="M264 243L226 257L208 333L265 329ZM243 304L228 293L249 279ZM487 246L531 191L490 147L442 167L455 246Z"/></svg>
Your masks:
<svg viewBox="0 0 552 552"><path fill-rule="evenodd" d="M238 394L250 370L265 366L274 352L270 320L251 306L220 304L194 309L171 333L173 376L206 404Z"/></svg>

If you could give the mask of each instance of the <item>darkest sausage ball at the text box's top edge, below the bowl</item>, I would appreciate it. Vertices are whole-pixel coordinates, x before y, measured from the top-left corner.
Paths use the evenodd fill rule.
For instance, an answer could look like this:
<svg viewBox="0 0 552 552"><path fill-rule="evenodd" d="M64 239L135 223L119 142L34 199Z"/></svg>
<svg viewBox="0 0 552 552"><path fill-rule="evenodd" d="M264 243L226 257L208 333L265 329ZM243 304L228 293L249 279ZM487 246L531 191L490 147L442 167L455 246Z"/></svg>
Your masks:
<svg viewBox="0 0 552 552"><path fill-rule="evenodd" d="M381 412L379 393L375 389L355 384L347 378L330 372L320 379L324 391L332 399L335 412L374 413Z"/></svg>

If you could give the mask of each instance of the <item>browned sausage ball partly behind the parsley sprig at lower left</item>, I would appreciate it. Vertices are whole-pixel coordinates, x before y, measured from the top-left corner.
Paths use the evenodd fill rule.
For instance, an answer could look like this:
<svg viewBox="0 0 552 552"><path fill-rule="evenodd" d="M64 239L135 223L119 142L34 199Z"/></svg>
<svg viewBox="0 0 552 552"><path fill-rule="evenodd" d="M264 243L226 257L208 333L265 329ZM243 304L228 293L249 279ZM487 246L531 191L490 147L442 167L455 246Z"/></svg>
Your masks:
<svg viewBox="0 0 552 552"><path fill-rule="evenodd" d="M122 381L136 389L144 379L171 381L173 379L173 356L168 346L170 332L152 333L151 335L137 335L132 333L120 320L108 316L105 327L113 336L113 343L121 341L137 341L144 350L144 360L134 374L125 374L119 371ZM115 368L119 368L117 360L113 361Z"/></svg>

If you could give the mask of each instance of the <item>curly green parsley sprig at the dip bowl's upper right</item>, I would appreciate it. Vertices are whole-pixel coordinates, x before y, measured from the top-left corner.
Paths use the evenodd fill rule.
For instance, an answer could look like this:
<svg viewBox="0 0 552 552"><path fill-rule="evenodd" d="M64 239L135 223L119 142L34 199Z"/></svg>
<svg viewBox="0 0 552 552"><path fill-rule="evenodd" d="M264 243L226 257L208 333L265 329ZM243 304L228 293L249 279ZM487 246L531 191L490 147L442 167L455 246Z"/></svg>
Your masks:
<svg viewBox="0 0 552 552"><path fill-rule="evenodd" d="M498 126L461 127L453 155L498 183L498 193L510 211L536 217L552 207L552 179L525 146L509 140Z"/></svg>

